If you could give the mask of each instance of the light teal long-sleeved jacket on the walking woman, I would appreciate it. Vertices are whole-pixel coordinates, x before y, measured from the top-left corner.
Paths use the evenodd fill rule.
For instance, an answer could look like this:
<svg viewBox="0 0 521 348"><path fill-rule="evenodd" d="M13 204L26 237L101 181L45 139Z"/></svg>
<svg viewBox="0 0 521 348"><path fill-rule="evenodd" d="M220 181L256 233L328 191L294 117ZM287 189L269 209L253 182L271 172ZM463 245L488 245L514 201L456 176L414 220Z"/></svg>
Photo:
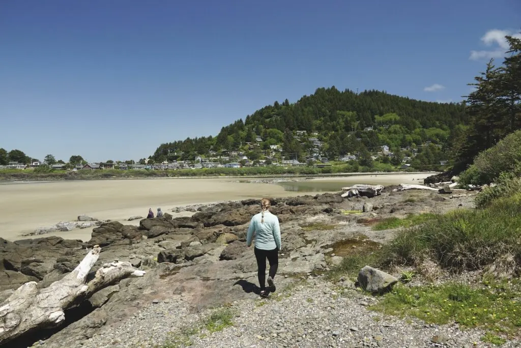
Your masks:
<svg viewBox="0 0 521 348"><path fill-rule="evenodd" d="M253 234L255 233L255 247L262 250L280 250L280 226L279 219L269 211L264 212L264 222L261 222L262 213L255 214L250 221L248 234L246 235L246 245L252 245Z"/></svg>

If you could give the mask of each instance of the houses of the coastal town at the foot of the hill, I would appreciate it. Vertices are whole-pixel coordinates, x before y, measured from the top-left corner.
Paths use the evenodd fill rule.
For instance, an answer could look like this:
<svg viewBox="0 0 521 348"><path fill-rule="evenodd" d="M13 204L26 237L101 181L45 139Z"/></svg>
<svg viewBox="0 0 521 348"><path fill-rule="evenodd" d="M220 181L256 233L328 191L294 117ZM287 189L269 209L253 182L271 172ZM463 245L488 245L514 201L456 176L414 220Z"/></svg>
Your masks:
<svg viewBox="0 0 521 348"><path fill-rule="evenodd" d="M370 128L370 127L369 127ZM373 129L364 129L364 131L373 131ZM80 163L74 163L69 160L65 163L63 160L54 160L54 156L47 155L46 159L40 161L31 158L28 163L23 161L11 160L6 165L0 166L0 169L28 169L38 168L43 165L52 170L101 170L101 169L119 169L119 170L176 170L176 169L203 169L203 168L242 168L242 167L263 167L263 166L312 166L316 168L325 168L332 164L355 163L361 154L359 152L346 153L336 158L328 158L328 145L325 141L318 139L318 133L312 133L308 136L306 131L296 131L293 138L302 146L309 150L304 153L286 153L280 144L264 145L261 136L256 135L254 142L245 142L234 150L220 149L215 151L210 149L205 154L191 154L187 156L182 151L169 152L168 159L154 161L151 157L141 158L140 160L107 160L104 162L89 162L83 160L81 156L72 156L81 158ZM357 139L359 141L359 139ZM431 141L426 141L420 147L436 146ZM394 165L398 169L407 169L411 167L412 160L418 155L417 146L406 146L395 153L390 150L390 146L384 144L382 146L374 146L367 148L370 160L379 161L380 163L389 163L394 160ZM396 149L398 150L398 149ZM16 150L15 150L16 151ZM52 160L47 157L51 156ZM72 159L71 157L71 159ZM184 158L189 159L184 159ZM398 162L396 162L398 157ZM446 160L440 160L439 165L447 164Z"/></svg>

